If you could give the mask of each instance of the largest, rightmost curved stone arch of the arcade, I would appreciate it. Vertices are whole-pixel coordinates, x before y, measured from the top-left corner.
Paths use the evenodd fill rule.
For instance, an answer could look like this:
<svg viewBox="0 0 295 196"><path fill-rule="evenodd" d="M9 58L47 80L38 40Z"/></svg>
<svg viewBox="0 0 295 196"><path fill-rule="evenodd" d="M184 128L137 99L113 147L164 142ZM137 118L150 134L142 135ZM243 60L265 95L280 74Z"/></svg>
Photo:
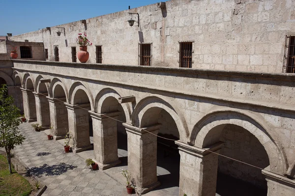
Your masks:
<svg viewBox="0 0 295 196"><path fill-rule="evenodd" d="M223 127L237 125L249 131L264 146L268 155L270 171L283 173L286 161L279 145L267 132L266 123L252 113L220 110L209 112L199 120L191 133L190 142L199 148L206 148L219 141ZM219 128L219 129L218 129Z"/></svg>

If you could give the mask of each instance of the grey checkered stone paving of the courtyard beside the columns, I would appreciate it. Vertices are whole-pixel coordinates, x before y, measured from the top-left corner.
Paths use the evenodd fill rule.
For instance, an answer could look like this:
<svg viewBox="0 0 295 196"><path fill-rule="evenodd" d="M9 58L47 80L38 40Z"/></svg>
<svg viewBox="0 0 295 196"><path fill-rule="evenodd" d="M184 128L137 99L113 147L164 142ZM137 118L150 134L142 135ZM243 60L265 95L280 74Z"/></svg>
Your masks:
<svg viewBox="0 0 295 196"><path fill-rule="evenodd" d="M21 124L20 130L26 140L14 153L47 186L42 196L130 196L125 185L91 170L78 155L64 153L62 145L35 132L29 123Z"/></svg>

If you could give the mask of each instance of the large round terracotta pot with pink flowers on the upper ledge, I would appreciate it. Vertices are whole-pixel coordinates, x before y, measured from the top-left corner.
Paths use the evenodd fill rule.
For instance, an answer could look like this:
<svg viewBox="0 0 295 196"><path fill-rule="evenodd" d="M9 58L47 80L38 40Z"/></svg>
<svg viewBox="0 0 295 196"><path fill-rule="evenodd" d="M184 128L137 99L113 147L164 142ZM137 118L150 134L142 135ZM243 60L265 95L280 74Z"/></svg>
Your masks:
<svg viewBox="0 0 295 196"><path fill-rule="evenodd" d="M87 62L89 58L89 52L87 52L87 46L92 46L92 43L89 42L89 40L86 37L86 33L84 32L83 36L82 33L78 34L78 38L76 39L76 42L80 46L80 51L78 51L78 59L80 62L85 63Z"/></svg>

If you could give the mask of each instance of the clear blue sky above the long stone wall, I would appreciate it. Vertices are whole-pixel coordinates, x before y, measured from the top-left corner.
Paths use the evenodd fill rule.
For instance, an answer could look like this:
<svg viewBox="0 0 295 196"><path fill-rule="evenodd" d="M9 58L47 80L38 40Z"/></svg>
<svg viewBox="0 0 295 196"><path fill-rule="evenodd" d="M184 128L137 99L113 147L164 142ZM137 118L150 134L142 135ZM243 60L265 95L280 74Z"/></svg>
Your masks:
<svg viewBox="0 0 295 196"><path fill-rule="evenodd" d="M160 0L1 0L0 35L18 35Z"/></svg>

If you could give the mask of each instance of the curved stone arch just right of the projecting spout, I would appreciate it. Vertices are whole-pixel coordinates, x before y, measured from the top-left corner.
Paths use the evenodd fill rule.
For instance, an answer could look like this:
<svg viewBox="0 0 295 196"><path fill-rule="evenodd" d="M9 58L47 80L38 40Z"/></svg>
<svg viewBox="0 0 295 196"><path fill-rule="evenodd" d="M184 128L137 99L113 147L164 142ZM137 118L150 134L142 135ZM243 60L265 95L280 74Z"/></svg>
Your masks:
<svg viewBox="0 0 295 196"><path fill-rule="evenodd" d="M183 118L179 116L180 112L176 111L175 107L171 106L168 102L156 96L146 97L135 106L131 119L132 124L141 127L143 115L151 108L161 108L172 116L177 125L180 140L184 141L189 136L187 126L184 126L186 122L183 122Z"/></svg>

